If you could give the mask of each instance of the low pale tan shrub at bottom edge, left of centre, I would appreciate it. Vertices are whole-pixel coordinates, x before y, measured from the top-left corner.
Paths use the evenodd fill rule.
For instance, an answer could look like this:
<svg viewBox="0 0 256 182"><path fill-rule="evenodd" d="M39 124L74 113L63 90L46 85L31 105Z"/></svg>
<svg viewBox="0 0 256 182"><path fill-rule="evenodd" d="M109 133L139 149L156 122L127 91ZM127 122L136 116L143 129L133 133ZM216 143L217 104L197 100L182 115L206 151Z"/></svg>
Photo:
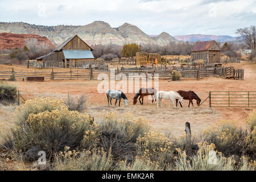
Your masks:
<svg viewBox="0 0 256 182"><path fill-rule="evenodd" d="M57 171L110 171L113 159L102 150L59 152L54 161Z"/></svg>

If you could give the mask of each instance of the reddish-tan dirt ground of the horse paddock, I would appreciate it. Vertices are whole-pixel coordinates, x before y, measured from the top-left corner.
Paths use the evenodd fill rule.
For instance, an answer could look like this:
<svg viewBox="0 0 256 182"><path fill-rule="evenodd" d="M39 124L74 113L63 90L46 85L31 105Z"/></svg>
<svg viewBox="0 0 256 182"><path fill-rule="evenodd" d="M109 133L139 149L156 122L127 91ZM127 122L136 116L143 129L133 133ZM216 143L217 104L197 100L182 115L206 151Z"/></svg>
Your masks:
<svg viewBox="0 0 256 182"><path fill-rule="evenodd" d="M196 80L194 78L184 78L181 81L159 81L159 90L193 90L201 98L202 101L207 98L209 91L245 91L256 90L256 64L250 63L234 63L226 64L225 66L233 65L234 68L245 69L245 80L224 79L219 77L206 77ZM11 70L14 67L15 71L27 71L26 67L1 65L0 71ZM34 70L35 68L30 68ZM30 70L30 71L31 71ZM38 70L38 69L37 69ZM61 69L64 70L64 69ZM5 82L5 81L4 81ZM7 81L9 82L9 81ZM116 81L117 83L118 81ZM172 105L168 107L168 101L163 101L163 108L159 109L156 104L151 105L151 100L144 99L144 105L133 105L133 94L127 93L129 106L125 107L121 102L121 107L108 106L105 94L97 92L97 86L100 81L97 80L56 80L44 82L27 82L13 81L10 84L18 86L20 93L27 100L34 97L55 97L67 98L67 93L73 96L85 94L88 98L87 112L94 115L96 120L100 120L102 111L108 113L114 111L117 114L132 113L134 117L142 117L155 130L170 131L172 135L184 134L185 122L191 123L193 133L197 133L205 129L205 127L214 124L221 119L238 119L246 118L252 109L247 110L246 107L208 107L208 100L200 107L188 108L188 101L184 101L184 107L175 109ZM196 102L194 101L196 105ZM0 107L1 113L6 113ZM5 119L6 120L6 119ZM0 119L0 122L3 121ZM0 123L0 125L1 125Z"/></svg>

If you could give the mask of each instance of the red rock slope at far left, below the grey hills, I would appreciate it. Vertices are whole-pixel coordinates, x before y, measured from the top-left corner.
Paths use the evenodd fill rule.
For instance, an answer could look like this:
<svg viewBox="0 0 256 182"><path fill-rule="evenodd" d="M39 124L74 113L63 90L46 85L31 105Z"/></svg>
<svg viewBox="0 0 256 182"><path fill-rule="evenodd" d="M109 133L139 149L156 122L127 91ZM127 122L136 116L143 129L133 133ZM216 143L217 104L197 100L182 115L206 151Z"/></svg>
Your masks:
<svg viewBox="0 0 256 182"><path fill-rule="evenodd" d="M2 33L0 34L0 49L14 49L19 47L23 48L26 45L25 40L29 38L38 39L39 44L46 43L50 46L54 46L46 36L39 36L35 34Z"/></svg>

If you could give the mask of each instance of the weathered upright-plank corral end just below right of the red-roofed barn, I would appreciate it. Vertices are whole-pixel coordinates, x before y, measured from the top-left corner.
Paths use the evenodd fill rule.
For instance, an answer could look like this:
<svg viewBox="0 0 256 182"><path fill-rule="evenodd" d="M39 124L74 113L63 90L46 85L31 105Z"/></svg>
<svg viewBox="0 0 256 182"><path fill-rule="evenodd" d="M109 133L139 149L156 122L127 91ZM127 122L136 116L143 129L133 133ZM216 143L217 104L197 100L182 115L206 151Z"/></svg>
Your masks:
<svg viewBox="0 0 256 182"><path fill-rule="evenodd" d="M243 69L235 69L234 67L215 68L214 74L223 78L234 78L236 80L243 80L245 71Z"/></svg>

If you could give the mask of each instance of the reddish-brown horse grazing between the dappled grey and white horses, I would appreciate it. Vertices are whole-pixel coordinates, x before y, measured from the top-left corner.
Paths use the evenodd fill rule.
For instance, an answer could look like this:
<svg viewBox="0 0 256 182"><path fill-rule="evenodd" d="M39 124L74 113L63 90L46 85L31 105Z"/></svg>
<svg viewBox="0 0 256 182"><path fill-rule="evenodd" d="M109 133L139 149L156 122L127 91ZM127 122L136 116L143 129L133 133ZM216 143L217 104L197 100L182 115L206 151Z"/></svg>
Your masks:
<svg viewBox="0 0 256 182"><path fill-rule="evenodd" d="M133 105L135 105L137 103L137 99L139 97L139 103L141 103L141 105L143 105L143 98L144 96L151 96L152 97L152 104L154 102L154 98L155 98L155 102L156 102L156 89L154 88L141 88L139 89L139 91L137 92L137 94L134 96L133 98ZM141 102L142 99L142 102Z"/></svg>

